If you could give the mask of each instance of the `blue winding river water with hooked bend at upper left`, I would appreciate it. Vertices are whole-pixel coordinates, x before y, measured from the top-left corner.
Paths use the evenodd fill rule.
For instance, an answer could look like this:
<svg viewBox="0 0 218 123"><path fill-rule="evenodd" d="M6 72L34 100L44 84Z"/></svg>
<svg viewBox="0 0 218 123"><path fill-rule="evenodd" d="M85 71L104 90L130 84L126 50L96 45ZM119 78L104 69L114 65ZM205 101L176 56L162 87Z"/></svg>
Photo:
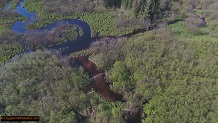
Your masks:
<svg viewBox="0 0 218 123"><path fill-rule="evenodd" d="M60 43L56 46L53 46L52 49L57 49L57 50L61 49L61 53L63 55L69 55L72 52L76 52L76 51L80 51L82 49L85 49L90 45L90 43L92 41L90 27L86 22L84 22L80 19L56 21L56 22L54 22L54 23L52 23L44 28L41 28L41 29L26 30L25 27L37 19L37 13L36 12L28 12L26 8L23 8L24 2L25 2L25 0L21 0L19 2L19 4L16 6L15 10L10 10L10 11L15 11L18 14L27 18L27 21L25 21L25 22L17 21L16 23L14 23L11 26L11 30L13 32L25 35L31 31L43 32L46 30L51 30L52 28L57 27L60 23L61 24L73 24L73 25L77 25L78 27L82 28L83 35L78 36L76 41L68 40L64 43ZM3 11L9 11L8 9L10 8L10 6L11 6L11 4L9 3L8 6L3 9ZM30 49L26 48L26 44L24 42L22 42L22 45L24 46L25 53L31 51Z"/></svg>

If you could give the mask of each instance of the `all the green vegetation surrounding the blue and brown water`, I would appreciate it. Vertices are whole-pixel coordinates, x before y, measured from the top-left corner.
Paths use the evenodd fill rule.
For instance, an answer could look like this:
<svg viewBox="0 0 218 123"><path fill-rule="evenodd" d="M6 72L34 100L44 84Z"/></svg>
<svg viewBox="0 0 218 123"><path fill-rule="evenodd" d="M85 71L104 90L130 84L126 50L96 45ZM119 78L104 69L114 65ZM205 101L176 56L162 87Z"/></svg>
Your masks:
<svg viewBox="0 0 218 123"><path fill-rule="evenodd" d="M69 56L48 47L76 39L75 25L14 33L11 25L25 18L2 12L8 2L13 9L19 0L0 2L0 116L36 115L42 123L218 121L217 0L25 0L38 13L27 29L80 18L92 37L102 36ZM21 40L34 51L22 53ZM122 99L84 91L93 77L73 66L84 55Z"/></svg>

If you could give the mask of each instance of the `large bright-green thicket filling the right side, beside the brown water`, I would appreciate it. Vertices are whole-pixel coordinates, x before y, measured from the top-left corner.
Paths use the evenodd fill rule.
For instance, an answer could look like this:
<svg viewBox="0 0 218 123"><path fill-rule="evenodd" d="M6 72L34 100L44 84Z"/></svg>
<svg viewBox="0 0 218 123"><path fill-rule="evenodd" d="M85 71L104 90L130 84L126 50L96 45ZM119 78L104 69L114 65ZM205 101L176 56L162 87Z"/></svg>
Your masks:
<svg viewBox="0 0 218 123"><path fill-rule="evenodd" d="M122 39L118 44L125 44L113 49L122 56L118 62L108 62L117 59L110 44L101 45L93 59L111 66L111 87L122 92L128 106L144 105L144 122L216 122L218 42L190 38L187 43L162 31Z"/></svg>

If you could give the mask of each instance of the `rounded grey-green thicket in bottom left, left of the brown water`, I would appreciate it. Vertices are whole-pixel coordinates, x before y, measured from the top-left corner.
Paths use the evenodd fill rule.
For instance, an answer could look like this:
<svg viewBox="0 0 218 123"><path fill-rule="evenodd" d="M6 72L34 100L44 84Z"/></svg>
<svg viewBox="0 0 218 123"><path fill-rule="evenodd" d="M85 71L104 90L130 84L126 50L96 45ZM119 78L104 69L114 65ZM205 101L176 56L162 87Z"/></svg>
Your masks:
<svg viewBox="0 0 218 123"><path fill-rule="evenodd" d="M25 54L0 68L1 115L39 115L42 122L76 122L89 97L79 88L89 83L68 59L48 51Z"/></svg>

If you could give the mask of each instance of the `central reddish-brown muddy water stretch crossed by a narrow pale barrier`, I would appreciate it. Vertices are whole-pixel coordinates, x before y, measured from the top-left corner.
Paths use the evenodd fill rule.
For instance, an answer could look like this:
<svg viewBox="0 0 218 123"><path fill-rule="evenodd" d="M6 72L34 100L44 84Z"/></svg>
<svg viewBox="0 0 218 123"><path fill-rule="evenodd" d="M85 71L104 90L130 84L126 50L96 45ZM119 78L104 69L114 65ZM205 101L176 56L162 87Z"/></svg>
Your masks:
<svg viewBox="0 0 218 123"><path fill-rule="evenodd" d="M110 89L110 80L106 77L104 70L97 68L97 66L86 56L79 56L73 59L75 64L82 66L89 74L91 83L82 88L85 92L90 92L92 89L109 102L124 101L121 94L115 93ZM72 63L72 62L71 62Z"/></svg>

